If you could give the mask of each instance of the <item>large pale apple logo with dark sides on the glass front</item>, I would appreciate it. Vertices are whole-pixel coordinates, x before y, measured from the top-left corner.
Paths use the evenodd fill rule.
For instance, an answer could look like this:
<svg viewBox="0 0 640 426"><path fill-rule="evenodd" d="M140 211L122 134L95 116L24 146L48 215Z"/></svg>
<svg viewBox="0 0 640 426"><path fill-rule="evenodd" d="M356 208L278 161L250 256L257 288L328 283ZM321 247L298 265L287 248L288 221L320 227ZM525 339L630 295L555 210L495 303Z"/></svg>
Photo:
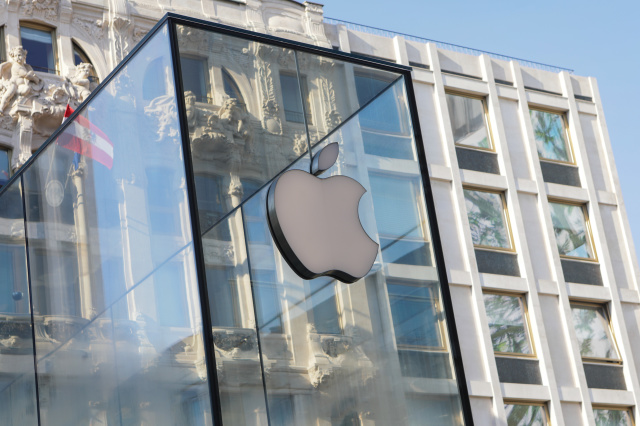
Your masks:
<svg viewBox="0 0 640 426"><path fill-rule="evenodd" d="M311 173L289 170L269 188L267 218L276 246L291 269L310 280L327 275L354 283L373 266L378 244L360 222L366 189L347 176L316 176L335 163L333 142L314 155Z"/></svg>

